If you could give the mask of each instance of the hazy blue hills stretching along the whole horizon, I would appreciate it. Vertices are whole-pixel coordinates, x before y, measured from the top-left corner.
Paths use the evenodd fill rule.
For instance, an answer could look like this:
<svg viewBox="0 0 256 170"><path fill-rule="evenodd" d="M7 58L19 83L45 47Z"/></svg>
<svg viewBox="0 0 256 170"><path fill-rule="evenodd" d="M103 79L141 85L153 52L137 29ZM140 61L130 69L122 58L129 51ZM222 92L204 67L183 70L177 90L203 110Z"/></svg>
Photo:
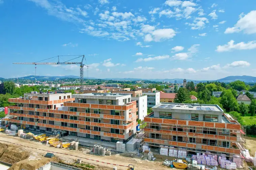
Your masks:
<svg viewBox="0 0 256 170"><path fill-rule="evenodd" d="M74 78L74 79L79 79L79 76L26 76L26 77L20 77L18 79L27 79L27 80L38 80L38 81L42 81L42 80L49 80L49 81L54 81L54 80L59 80L59 79L69 79L69 78ZM85 77L85 79L87 79L87 77ZM89 79L98 79L98 78L94 78L94 77L89 77ZM4 80L4 78L0 78L0 80ZM137 78L105 78L103 80L119 80L119 81L145 81L145 80L149 80L149 81L158 81L158 82L174 82L177 81L177 83L183 83L184 79L180 79L180 78L176 78L176 79L137 79ZM218 80L190 80L190 79L186 79L187 82L188 81L193 81L193 82L207 82L207 81L220 81L220 82L225 82L225 83L229 83L229 82L233 82L236 80L240 80L240 81L244 81L247 83L254 83L256 82L256 77L252 77L252 76L228 76L222 79L218 79Z"/></svg>

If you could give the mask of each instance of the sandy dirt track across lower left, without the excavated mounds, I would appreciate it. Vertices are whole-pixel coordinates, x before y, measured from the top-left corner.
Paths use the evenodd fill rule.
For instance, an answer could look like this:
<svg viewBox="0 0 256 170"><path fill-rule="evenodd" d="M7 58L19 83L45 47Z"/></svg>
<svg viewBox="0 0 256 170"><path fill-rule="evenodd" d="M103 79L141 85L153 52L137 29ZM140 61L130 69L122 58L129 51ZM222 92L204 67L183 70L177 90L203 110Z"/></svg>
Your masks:
<svg viewBox="0 0 256 170"><path fill-rule="evenodd" d="M20 137L9 136L4 133L0 133L0 140L1 140L0 143L7 144L8 146L13 146L15 148L19 148L19 150L23 150L23 151L25 150L29 152L30 156L27 159L32 158L33 161L37 161L37 162L40 162L40 160L37 160L37 158L41 159L43 155L45 155L47 152L50 151L50 152L60 153L60 154L56 154L56 153L54 154L59 159L67 163L71 163L74 160L81 159L77 157L83 157L87 159L98 160L105 163L111 163L111 164L117 164L117 165L128 166L129 164L133 164L135 166L135 169L139 169L139 170L143 170L143 169L145 170L156 170L156 169L167 170L168 169L169 170L170 169L168 167L164 167L161 165L162 164L161 159L158 159L159 161L149 161L149 160L141 160L138 158L129 158L127 156L120 156L119 154L101 157L96 155L85 154L85 152L82 152L82 151L74 151L74 150L67 150L65 148L49 147L37 141L31 141L27 139L22 139ZM9 142L17 143L17 144L21 144L21 145L25 145L33 148L10 144ZM41 149L41 150L38 150L38 149ZM46 150L46 151L42 151L42 150ZM69 155L64 155L64 154L69 154ZM100 163L92 160L82 159L83 162L97 166L96 169L109 170L109 169L113 169L113 167L115 166L115 165L109 165L109 164ZM46 160L42 160L41 162L43 161L46 161ZM126 167L121 167L121 166L117 166L117 168L122 170L127 169Z"/></svg>

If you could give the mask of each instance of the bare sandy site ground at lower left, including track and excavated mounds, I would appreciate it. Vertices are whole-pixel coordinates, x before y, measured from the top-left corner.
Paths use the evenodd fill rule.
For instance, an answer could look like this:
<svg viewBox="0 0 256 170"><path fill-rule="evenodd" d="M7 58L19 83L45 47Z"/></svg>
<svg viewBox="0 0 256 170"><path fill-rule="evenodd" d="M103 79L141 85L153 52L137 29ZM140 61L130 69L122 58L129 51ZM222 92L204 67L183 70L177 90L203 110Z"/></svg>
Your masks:
<svg viewBox="0 0 256 170"><path fill-rule="evenodd" d="M12 144L12 143L15 143L15 144ZM157 156L157 159L155 161L132 158L131 153L122 153L122 154L102 157L102 156L90 155L82 151L74 151L74 150L68 150L66 148L50 147L38 141L22 139L17 136L9 136L4 133L0 133L0 144L1 144L0 152L2 152L0 160L6 161L6 162L9 162L11 160L9 163L12 163L12 164L17 162L10 168L10 170L19 170L19 169L22 169L21 167L23 167L24 169L26 168L26 170L34 170L36 166L40 167L40 165L42 166L47 162L51 161L49 160L49 158L44 158L44 155L49 151L58 152L58 154L54 153L55 156L57 157L55 159L61 159L66 163L73 163L74 160L81 159L78 157L91 159L91 160L82 159L82 161L96 166L95 169L101 169L101 170L113 169L113 167L115 166L115 165L107 165L105 163L118 164L118 165L124 165L124 166L133 164L135 166L135 169L138 169L138 170L170 169L162 165L162 162L163 162L162 159L166 158L166 157L162 158L162 156ZM16 144L20 144L20 145L16 145ZM21 145L24 145L24 146L21 146ZM7 151L5 151L6 148L8 148ZM42 150L45 150L45 151L42 151ZM65 155L65 154L68 154L68 155ZM92 160L97 160L105 163L96 162ZM53 161L56 161L56 160L53 160ZM122 166L116 166L116 167L122 170L127 169L127 167L122 167Z"/></svg>

